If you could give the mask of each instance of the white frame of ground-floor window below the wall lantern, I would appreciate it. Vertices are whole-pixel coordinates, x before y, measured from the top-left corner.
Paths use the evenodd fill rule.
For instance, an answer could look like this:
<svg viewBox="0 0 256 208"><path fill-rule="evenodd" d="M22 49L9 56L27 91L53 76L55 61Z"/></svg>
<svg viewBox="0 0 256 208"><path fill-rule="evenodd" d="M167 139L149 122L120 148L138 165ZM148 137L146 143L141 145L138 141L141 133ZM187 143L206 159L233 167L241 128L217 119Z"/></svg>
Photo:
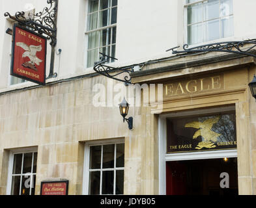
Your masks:
<svg viewBox="0 0 256 208"><path fill-rule="evenodd" d="M89 164L90 164L90 147L91 146L104 146L107 144L124 144L124 139L115 139L115 140L107 140L107 141L98 141L98 142L87 142L85 144L85 153L84 153L84 163L83 163L83 195L89 195ZM116 145L115 145L115 158L116 158ZM125 155L125 153L124 153ZM103 154L101 153L101 160L103 158ZM115 160L116 161L116 160ZM101 161L102 166L102 161ZM124 167L116 167L116 164L114 164L114 168L100 168L100 169L93 169L94 171L100 171L100 179L102 179L102 170L107 171L111 170L114 171L114 181L113 181L113 187L114 187L114 195L115 195L115 181L116 181L116 171L117 170L124 170ZM100 181L100 195L102 195L102 181Z"/></svg>

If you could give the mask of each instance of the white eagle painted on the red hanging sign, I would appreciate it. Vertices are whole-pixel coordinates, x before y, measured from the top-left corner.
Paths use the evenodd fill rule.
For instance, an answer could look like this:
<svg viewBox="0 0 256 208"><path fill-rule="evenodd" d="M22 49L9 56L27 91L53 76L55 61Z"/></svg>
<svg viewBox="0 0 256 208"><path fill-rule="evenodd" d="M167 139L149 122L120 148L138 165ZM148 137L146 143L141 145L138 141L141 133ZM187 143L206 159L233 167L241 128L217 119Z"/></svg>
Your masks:
<svg viewBox="0 0 256 208"><path fill-rule="evenodd" d="M27 45L23 42L17 42L16 45L22 47L25 50L25 52L22 54L22 58L29 57L30 59L29 62L25 62L22 64L22 66L36 70L35 64L39 66L40 62L42 62L41 59L36 57L36 52L42 51L42 45Z"/></svg>

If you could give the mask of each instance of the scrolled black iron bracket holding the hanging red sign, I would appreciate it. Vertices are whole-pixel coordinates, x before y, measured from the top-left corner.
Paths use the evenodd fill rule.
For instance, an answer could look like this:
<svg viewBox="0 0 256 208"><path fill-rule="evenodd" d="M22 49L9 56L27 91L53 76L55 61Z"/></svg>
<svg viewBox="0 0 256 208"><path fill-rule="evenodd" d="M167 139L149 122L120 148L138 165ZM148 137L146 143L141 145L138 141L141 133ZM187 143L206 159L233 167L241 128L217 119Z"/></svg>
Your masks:
<svg viewBox="0 0 256 208"><path fill-rule="evenodd" d="M53 73L53 65L55 58L55 46L57 44L57 12L58 12L59 0L47 0L48 7L44 7L42 12L36 14L29 14L25 17L25 12L16 12L15 16L11 16L8 12L5 12L4 16L14 21L17 21L24 27L29 27L32 31L38 32L38 34L45 35L48 40L51 40L51 63L50 73L46 79L57 77L57 73Z"/></svg>

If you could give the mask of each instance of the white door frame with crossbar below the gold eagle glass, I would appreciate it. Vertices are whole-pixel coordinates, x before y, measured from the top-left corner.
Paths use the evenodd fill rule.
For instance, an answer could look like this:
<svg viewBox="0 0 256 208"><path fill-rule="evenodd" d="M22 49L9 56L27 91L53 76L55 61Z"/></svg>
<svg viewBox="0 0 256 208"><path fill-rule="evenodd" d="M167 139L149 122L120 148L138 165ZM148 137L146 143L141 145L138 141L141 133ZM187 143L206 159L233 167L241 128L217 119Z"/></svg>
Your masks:
<svg viewBox="0 0 256 208"><path fill-rule="evenodd" d="M212 109L188 110L184 112L162 114L158 118L158 164L159 164L159 194L166 194L166 162L189 161L199 159L220 159L225 157L237 157L237 149L198 151L188 153L166 153L167 149L167 118L190 116L193 114L207 114L235 110L235 105L229 107L216 107Z"/></svg>

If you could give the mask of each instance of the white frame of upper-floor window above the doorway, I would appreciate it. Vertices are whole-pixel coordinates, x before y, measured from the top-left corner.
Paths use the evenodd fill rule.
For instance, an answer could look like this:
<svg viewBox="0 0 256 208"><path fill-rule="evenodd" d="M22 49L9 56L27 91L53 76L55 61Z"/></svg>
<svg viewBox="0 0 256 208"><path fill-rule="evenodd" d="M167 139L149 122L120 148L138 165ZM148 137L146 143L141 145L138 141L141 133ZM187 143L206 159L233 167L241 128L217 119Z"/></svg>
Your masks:
<svg viewBox="0 0 256 208"><path fill-rule="evenodd" d="M194 4L197 4L197 3L203 3L203 2L207 2L208 0L198 0L198 1L195 1L193 3L186 3L186 0L183 0L183 8L184 8L184 43L185 44L188 44L188 6L190 5L194 5ZM219 0L220 1L220 0ZM234 2L233 2L233 5L234 5ZM228 16L233 16L234 17L234 10L233 10L233 13L232 14L229 14ZM221 18L225 18L225 17L228 17L228 16L223 16ZM218 18L214 18L214 19L220 19L220 16ZM211 20L214 20L214 19L208 19L207 21L211 21ZM202 21L203 22L206 22L206 21ZM221 25L219 25L219 27L221 27ZM233 24L233 29L234 29L234 24ZM205 40L205 30L203 31L204 32L204 40L203 42L199 42L197 44L190 44L191 46L195 46L195 45L201 45L201 44L207 44L209 42L217 42L217 41L221 41L221 40L227 40L227 39L230 39L234 36L234 33L235 31L233 31L233 36L229 36L229 37L225 37L225 38L221 38L221 35L219 35L220 38L218 39L215 39L215 40L210 40L210 41L206 41ZM221 32L221 30L220 30Z"/></svg>

